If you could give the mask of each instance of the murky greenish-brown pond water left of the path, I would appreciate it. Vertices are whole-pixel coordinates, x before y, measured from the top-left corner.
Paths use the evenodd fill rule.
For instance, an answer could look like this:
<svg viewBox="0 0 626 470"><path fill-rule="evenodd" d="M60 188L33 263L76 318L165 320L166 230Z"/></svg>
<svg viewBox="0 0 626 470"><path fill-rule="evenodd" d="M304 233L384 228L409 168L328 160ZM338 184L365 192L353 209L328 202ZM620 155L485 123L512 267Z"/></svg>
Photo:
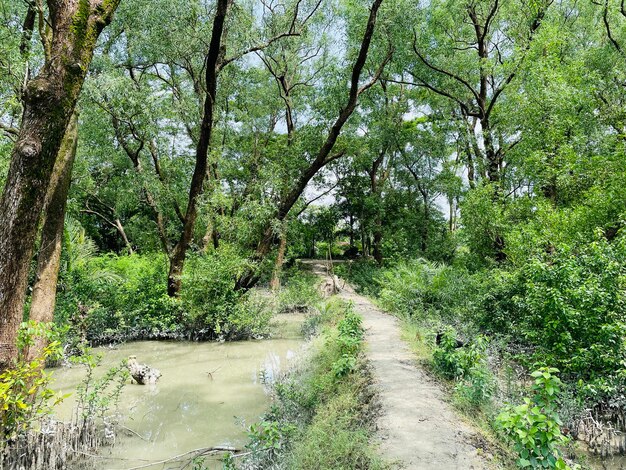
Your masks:
<svg viewBox="0 0 626 470"><path fill-rule="evenodd" d="M117 349L98 348L103 373L129 355L156 367L163 376L156 385L129 384L119 411L123 425L116 443L101 449L100 469L128 469L168 459L198 448L245 445L246 428L267 409L266 383L285 370L303 344L301 316L280 320L279 334L269 340L233 343L141 341ZM78 367L54 372L55 388L71 392L84 377ZM73 399L59 408L69 419ZM206 462L207 464L210 462ZM211 468L221 468L218 463ZM179 468L172 463L149 468Z"/></svg>

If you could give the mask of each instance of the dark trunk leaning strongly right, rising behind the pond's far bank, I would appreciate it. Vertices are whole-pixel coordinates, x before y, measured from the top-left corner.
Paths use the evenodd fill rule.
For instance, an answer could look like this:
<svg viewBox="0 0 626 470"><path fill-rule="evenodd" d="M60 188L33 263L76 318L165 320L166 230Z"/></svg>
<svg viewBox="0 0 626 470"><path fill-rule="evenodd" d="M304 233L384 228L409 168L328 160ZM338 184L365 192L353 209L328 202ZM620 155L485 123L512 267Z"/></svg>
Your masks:
<svg viewBox="0 0 626 470"><path fill-rule="evenodd" d="M382 71L391 58L391 53L385 59L385 61L381 64L381 67L377 70L376 74L365 85L360 84L361 74L363 72L363 68L365 67L365 62L367 60L367 55L369 53L370 44L372 42L372 37L374 35L374 28L376 26L376 17L378 15L378 10L380 5L383 3L383 0L374 0L372 6L370 8L370 15L367 21L367 25L365 27L365 32L363 34L363 40L361 41L361 46L359 48L359 54L352 68L352 76L350 80L350 92L348 96L348 101L345 106L340 110L339 116L336 121L330 128L328 135L326 136L326 140L321 146L315 160L311 162L311 164L301 173L300 177L296 180L295 184L291 188L291 190L287 193L286 197L283 198L278 204L278 209L275 213L274 219L282 222L289 215L289 211L291 208L298 202L300 196L306 189L309 181L328 163L340 158L343 155L343 152L338 155L330 155L335 147L335 143L341 134L341 130L343 126L348 121L352 113L356 109L359 96L372 87L379 79ZM273 224L270 222L266 225L261 240L257 244L257 248L252 257L252 261L255 264L258 264L260 261L265 259L265 257L270 253L272 246L275 241L275 234L273 230ZM236 289L250 289L256 285L259 281L259 273L256 267L252 267L246 272L244 272L235 283Z"/></svg>

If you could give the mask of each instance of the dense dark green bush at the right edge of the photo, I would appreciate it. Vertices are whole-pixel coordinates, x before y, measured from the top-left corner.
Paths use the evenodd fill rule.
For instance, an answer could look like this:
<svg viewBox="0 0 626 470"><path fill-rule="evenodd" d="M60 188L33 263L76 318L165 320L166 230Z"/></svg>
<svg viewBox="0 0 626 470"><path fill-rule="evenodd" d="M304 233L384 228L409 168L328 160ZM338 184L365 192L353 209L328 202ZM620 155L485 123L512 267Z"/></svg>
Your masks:
<svg viewBox="0 0 626 470"><path fill-rule="evenodd" d="M626 242L558 247L522 270L521 333L534 360L569 379L615 376L626 361Z"/></svg>

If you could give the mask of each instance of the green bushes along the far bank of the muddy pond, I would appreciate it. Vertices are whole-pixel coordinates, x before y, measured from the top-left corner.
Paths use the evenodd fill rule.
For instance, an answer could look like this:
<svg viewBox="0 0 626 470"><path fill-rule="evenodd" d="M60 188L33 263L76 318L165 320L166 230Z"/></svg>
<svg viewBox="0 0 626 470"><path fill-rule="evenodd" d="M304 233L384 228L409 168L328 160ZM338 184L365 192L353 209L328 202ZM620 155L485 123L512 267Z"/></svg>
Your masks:
<svg viewBox="0 0 626 470"><path fill-rule="evenodd" d="M261 336L268 330L269 308L234 289L246 263L227 245L208 255L191 255L176 299L167 295L168 262L161 254L88 256L62 273L55 321L72 325L79 339L70 338L70 343L80 337L98 344Z"/></svg>

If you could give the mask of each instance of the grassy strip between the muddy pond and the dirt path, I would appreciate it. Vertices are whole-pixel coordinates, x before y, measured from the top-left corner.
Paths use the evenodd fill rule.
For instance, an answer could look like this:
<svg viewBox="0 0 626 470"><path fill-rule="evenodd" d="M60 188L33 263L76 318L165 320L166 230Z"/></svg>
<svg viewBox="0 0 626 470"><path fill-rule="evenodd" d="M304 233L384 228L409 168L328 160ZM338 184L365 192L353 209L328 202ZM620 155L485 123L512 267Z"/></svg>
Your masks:
<svg viewBox="0 0 626 470"><path fill-rule="evenodd" d="M276 401L252 427L241 468L387 468L370 445L376 403L362 353L360 317L331 299L316 317L309 357L275 384Z"/></svg>

